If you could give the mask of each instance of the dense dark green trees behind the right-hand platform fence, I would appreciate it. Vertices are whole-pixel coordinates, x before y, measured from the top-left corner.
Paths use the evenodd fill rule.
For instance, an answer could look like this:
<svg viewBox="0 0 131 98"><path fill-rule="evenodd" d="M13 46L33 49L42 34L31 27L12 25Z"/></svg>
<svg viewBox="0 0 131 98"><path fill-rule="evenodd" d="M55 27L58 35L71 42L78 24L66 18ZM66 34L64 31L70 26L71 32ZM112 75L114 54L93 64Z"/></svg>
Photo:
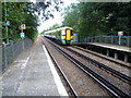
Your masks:
<svg viewBox="0 0 131 98"><path fill-rule="evenodd" d="M80 37L117 35L131 36L131 2L81 2L63 13L63 25L74 28Z"/></svg>

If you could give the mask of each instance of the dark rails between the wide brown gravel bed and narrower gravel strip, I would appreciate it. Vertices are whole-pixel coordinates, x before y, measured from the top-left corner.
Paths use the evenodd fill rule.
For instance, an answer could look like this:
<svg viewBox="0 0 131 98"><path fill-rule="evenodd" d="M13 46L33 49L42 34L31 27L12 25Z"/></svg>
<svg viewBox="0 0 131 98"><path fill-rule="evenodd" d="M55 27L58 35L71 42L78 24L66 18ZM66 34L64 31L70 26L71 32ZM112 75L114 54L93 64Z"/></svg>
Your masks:
<svg viewBox="0 0 131 98"><path fill-rule="evenodd" d="M71 57L67 52L64 52L62 49L57 47L57 45L53 44L53 47L61 52L66 58L71 60L75 65L78 65L82 71L84 71L87 75L90 75L92 78L94 78L98 84L100 84L104 88L106 88L111 95L115 97L131 97L131 94L124 90L123 88L115 85L109 79L105 78L94 70L90 69L87 65L85 65L83 62L76 60L75 58Z"/></svg>

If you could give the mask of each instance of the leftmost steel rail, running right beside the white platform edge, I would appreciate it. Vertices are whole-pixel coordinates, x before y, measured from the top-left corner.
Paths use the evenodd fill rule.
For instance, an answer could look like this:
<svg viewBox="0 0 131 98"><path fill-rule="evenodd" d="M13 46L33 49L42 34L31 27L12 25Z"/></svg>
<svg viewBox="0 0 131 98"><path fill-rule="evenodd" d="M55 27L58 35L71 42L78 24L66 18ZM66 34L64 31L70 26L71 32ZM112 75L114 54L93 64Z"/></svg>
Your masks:
<svg viewBox="0 0 131 98"><path fill-rule="evenodd" d="M60 68L60 65L58 64L57 60L55 59L55 57L52 56L52 53L50 52L50 50L47 48L46 44L44 44L44 45L45 45L45 47L46 47L46 49L47 49L47 51L48 51L51 60L53 61L53 63L55 63L56 66L58 68L59 72L60 72L61 75L63 76L64 81L67 82L68 87L70 87L70 91L71 91L72 96L73 96L74 98L79 98L76 91L75 91L74 88L72 87L71 83L68 81L68 77L66 76L66 74L64 74L63 71L61 70L61 68Z"/></svg>

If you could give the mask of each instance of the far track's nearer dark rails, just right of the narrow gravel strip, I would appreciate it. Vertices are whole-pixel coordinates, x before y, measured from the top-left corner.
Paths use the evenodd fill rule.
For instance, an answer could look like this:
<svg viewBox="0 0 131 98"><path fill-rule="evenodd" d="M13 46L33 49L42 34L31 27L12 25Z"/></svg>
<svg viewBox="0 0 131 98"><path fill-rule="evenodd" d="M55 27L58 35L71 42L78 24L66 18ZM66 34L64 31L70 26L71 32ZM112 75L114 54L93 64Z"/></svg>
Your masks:
<svg viewBox="0 0 131 98"><path fill-rule="evenodd" d="M109 68L109 66L107 66L107 65L105 65L103 63L100 63L100 62L98 62L98 61L95 61L95 60L93 60L93 59L91 59L88 57L85 57L84 54L81 54L81 53L79 53L79 52L76 52L76 51L74 51L72 49L69 49L67 47L64 47L64 48L67 50L71 51L71 52L73 52L74 54L81 57L82 59L93 63L94 65L106 70L107 72L109 72L110 74L117 76L118 78L122 79L123 82L127 82L128 84L131 84L131 77L129 77L129 76L127 76L127 75L124 75L124 74L122 74L122 73L120 73L120 72L118 72L118 71L116 71L116 70L114 70L114 69L111 69L111 68Z"/></svg>

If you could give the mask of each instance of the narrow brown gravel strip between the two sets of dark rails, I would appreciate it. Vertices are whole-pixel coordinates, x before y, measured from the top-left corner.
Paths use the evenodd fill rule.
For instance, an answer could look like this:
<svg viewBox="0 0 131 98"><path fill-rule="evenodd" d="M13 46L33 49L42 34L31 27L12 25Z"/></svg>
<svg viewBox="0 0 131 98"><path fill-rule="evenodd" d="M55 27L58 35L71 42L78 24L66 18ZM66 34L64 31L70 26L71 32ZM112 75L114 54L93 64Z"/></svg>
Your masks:
<svg viewBox="0 0 131 98"><path fill-rule="evenodd" d="M71 47L70 47L71 48ZM66 49L64 49L66 50ZM73 49L74 50L74 49ZM86 52L78 50L80 53L90 57L90 54L86 54ZM75 59L78 59L79 61L83 62L85 65L87 65L88 68L93 69L94 71L96 71L97 73L99 73L100 75L103 75L105 78L108 78L110 82L112 82L114 84L122 87L123 89L126 89L127 91L131 91L130 88L131 86L124 82L122 82L121 79L115 77L114 75L107 73L105 70L102 70L97 66L95 66L94 64L88 63L87 61L83 60L82 58L75 56L74 53L67 51L67 53L71 54L72 57L74 57ZM96 58L95 58L96 59ZM105 60L100 61L105 62Z"/></svg>

